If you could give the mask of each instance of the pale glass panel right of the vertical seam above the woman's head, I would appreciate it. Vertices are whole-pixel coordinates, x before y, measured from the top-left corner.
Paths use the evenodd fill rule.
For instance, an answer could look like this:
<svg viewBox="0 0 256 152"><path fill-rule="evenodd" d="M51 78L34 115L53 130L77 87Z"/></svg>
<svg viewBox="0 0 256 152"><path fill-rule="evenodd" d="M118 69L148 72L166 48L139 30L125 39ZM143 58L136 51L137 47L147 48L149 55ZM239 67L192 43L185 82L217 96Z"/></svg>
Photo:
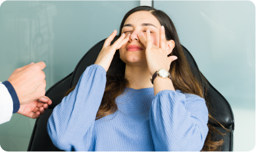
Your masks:
<svg viewBox="0 0 256 152"><path fill-rule="evenodd" d="M255 147L255 5L251 1L154 1L182 45L230 103L234 151Z"/></svg>

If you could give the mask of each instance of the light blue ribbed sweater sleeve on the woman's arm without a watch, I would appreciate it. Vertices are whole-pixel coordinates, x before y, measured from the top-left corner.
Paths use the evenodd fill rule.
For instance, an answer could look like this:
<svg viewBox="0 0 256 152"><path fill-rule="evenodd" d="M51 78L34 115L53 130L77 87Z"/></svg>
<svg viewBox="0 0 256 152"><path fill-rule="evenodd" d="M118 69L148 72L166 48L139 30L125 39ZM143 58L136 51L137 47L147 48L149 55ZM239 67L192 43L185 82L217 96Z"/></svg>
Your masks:
<svg viewBox="0 0 256 152"><path fill-rule="evenodd" d="M106 70L97 64L88 66L76 88L53 109L47 132L53 144L64 151L88 151L106 85Z"/></svg>

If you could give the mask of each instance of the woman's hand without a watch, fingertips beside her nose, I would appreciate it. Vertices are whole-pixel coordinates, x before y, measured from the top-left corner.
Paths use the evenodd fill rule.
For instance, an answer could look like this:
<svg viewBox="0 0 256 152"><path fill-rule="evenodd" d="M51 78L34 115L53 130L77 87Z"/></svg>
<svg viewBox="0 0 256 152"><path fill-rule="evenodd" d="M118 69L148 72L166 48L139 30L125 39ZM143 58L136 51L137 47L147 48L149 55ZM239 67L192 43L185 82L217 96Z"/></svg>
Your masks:
<svg viewBox="0 0 256 152"><path fill-rule="evenodd" d="M113 39L116 36L116 30L114 30L114 32L109 36L109 38L107 38L105 40L105 43L103 45L103 48L101 49L101 52L99 53L96 61L94 64L98 64L103 66L103 68L105 68L106 72L107 70L109 70L109 66L113 60L113 57L116 53L117 49L120 49L120 47L122 47L122 45L124 45L126 42L128 42L130 34L128 34L125 37L125 34L122 34L122 36L120 36L120 38L118 38L115 43L113 43L113 45L111 45L111 41L113 41Z"/></svg>

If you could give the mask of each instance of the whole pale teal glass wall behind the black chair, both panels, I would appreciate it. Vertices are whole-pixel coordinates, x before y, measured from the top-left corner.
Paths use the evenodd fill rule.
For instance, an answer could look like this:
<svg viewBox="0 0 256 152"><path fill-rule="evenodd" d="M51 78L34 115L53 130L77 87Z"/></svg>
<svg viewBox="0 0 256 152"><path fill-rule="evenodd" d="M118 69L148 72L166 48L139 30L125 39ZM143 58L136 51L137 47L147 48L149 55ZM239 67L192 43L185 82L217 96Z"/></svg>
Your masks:
<svg viewBox="0 0 256 152"><path fill-rule="evenodd" d="M46 89L70 74L140 1L5 1L0 7L0 81L44 61ZM234 151L255 147L255 5L251 1L153 1L234 112ZM0 125L5 151L26 151L35 120Z"/></svg>

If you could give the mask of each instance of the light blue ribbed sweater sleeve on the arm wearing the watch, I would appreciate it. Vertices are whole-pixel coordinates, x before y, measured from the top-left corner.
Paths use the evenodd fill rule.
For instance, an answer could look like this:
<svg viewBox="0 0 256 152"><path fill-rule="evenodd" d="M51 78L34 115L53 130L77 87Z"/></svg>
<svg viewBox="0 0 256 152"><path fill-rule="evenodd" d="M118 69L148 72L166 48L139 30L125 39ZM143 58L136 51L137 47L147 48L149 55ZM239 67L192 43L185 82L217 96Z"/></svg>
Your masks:
<svg viewBox="0 0 256 152"><path fill-rule="evenodd" d="M205 99L162 90L153 99L149 122L155 151L201 151L208 133Z"/></svg>

